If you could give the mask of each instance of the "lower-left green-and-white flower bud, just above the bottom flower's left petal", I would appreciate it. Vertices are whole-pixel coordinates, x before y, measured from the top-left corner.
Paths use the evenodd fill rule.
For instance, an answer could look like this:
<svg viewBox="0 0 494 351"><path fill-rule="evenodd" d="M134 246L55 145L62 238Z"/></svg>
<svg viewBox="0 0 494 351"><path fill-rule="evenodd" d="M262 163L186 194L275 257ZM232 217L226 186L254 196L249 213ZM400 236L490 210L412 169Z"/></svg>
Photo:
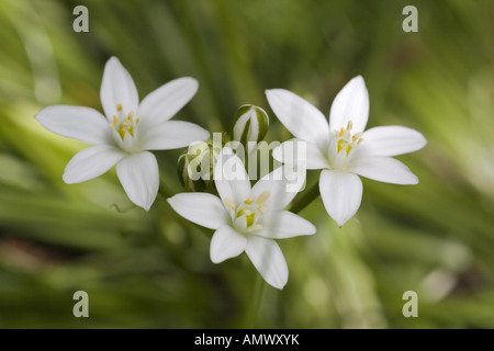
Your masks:
<svg viewBox="0 0 494 351"><path fill-rule="evenodd" d="M213 168L220 151L213 150L213 145L200 141L180 155L177 171L187 192L202 192L212 185Z"/></svg>

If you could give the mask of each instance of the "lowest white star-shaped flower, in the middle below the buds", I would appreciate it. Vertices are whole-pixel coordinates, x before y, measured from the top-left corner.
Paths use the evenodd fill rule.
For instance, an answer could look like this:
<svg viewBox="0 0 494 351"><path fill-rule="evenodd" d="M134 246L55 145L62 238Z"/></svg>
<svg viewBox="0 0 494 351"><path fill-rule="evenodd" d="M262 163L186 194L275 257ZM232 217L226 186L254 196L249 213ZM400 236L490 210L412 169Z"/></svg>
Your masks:
<svg viewBox="0 0 494 351"><path fill-rule="evenodd" d="M209 193L181 193L168 202L182 217L216 230L210 247L214 263L245 251L265 281L282 288L288 267L273 239L316 231L310 222L283 210L296 192L287 192L282 173L283 168L278 168L250 188L244 163L224 148L214 170L221 199Z"/></svg>

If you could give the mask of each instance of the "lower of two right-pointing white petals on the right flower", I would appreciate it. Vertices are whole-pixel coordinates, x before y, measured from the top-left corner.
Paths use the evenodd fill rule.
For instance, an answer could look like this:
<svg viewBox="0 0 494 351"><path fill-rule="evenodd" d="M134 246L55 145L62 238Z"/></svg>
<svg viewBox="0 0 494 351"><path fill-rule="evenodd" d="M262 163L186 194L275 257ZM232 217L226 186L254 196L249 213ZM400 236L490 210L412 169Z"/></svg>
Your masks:
<svg viewBox="0 0 494 351"><path fill-rule="evenodd" d="M417 184L418 178L408 167L385 156L360 157L351 161L350 171L384 183Z"/></svg>

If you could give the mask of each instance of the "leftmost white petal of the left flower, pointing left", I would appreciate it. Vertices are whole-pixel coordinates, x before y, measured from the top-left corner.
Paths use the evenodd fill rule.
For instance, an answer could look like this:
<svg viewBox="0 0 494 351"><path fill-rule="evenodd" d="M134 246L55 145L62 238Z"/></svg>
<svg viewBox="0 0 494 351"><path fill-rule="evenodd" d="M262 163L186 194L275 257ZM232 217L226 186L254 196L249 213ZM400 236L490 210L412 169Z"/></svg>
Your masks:
<svg viewBox="0 0 494 351"><path fill-rule="evenodd" d="M106 118L98 111L82 106L54 105L35 116L46 129L89 144L104 144L109 138Z"/></svg>

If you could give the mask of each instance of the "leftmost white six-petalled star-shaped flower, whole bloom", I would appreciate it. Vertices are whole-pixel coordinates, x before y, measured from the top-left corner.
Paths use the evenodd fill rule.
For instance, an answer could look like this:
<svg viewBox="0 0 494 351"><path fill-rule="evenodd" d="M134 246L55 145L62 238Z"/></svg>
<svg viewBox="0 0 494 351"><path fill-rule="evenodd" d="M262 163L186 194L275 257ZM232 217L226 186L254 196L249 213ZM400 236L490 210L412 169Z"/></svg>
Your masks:
<svg viewBox="0 0 494 351"><path fill-rule="evenodd" d="M101 83L103 116L82 106L54 105L36 120L48 131L93 146L67 165L64 181L80 183L97 178L114 165L131 201L148 211L159 188L156 157L147 150L186 147L209 138L200 126L169 121L198 90L193 78L172 80L149 93L139 104L134 81L116 57L108 60Z"/></svg>

